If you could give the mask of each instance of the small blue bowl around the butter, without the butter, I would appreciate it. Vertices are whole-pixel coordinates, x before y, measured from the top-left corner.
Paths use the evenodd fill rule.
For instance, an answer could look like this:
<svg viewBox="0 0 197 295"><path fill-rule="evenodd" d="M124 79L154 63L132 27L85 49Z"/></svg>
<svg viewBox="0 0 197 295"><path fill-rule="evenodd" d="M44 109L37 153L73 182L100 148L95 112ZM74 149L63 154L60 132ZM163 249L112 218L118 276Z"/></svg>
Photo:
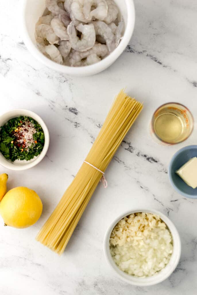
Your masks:
<svg viewBox="0 0 197 295"><path fill-rule="evenodd" d="M188 145L187 147L181 148L176 152L168 167L168 176L170 182L174 189L178 191L179 194L187 197L196 199L197 198L197 188L193 189L188 186L182 179L176 174L183 164L185 164L189 159L197 157L197 145Z"/></svg>

